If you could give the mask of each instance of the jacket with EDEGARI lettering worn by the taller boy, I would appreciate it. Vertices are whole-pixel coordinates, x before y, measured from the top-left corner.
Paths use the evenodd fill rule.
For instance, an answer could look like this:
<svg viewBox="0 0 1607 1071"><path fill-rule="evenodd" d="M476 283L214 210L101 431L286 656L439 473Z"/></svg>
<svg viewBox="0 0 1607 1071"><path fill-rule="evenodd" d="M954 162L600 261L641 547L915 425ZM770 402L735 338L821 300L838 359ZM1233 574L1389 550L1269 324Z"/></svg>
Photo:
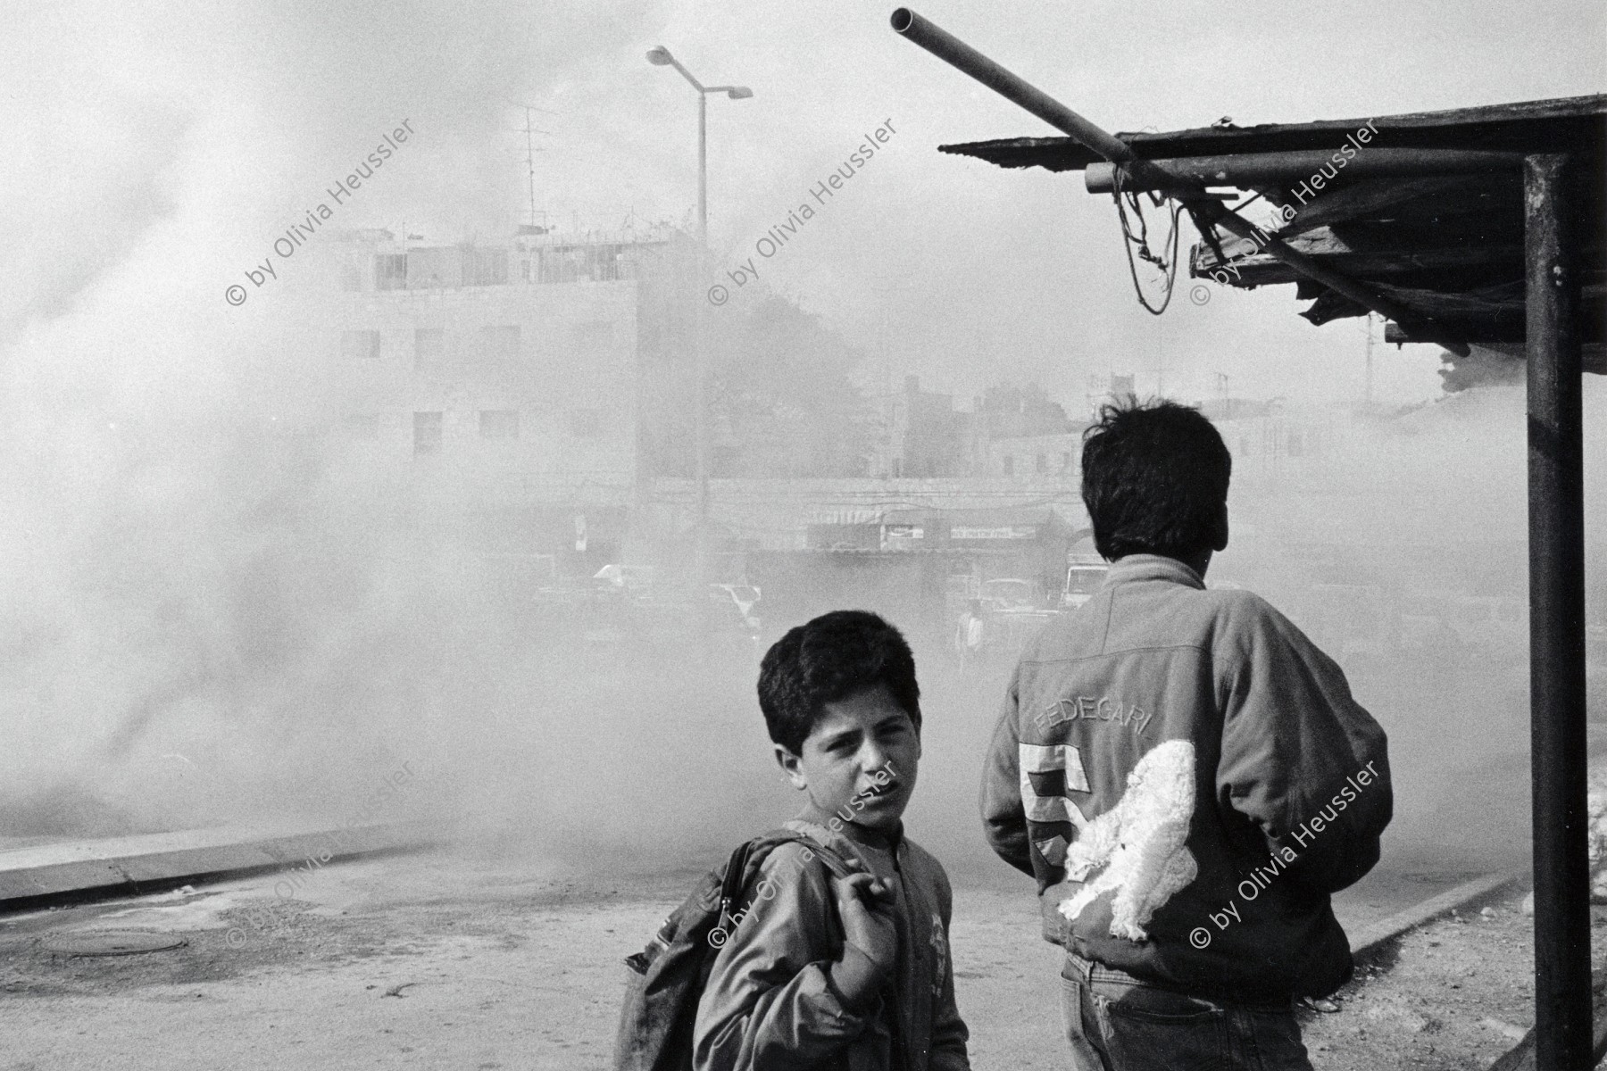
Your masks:
<svg viewBox="0 0 1607 1071"><path fill-rule="evenodd" d="M1123 800L1162 742L1146 771L1192 780L1170 811L1146 798L1165 780L1152 771ZM1384 731L1340 668L1260 597L1149 554L1117 562L1022 655L982 784L988 841L1037 877L1046 933L1239 999L1323 996L1350 975L1329 894L1377 862L1390 811ZM1099 891L1067 923L1069 873L1091 893L1106 864L1131 870L1127 902Z"/></svg>

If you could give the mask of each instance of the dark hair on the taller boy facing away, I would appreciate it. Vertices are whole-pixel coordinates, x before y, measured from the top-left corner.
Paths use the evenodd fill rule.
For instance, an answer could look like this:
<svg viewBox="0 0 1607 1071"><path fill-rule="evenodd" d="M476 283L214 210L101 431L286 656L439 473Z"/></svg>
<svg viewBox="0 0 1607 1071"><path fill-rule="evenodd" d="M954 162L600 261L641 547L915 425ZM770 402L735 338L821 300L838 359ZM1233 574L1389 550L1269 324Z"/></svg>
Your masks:
<svg viewBox="0 0 1607 1071"><path fill-rule="evenodd" d="M1099 408L1083 432L1083 504L1094 548L1188 557L1215 544L1233 454L1199 411L1165 398Z"/></svg>

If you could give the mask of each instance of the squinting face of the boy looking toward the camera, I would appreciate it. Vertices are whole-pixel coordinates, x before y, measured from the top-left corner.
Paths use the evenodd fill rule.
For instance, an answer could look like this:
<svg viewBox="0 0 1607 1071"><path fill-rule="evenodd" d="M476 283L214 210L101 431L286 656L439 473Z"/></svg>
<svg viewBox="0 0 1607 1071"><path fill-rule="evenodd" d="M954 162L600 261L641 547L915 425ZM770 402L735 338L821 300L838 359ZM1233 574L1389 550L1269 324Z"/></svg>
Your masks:
<svg viewBox="0 0 1607 1071"><path fill-rule="evenodd" d="M812 821L890 835L914 792L921 737L887 686L877 684L826 703L802 753L778 743L776 761L808 793Z"/></svg>

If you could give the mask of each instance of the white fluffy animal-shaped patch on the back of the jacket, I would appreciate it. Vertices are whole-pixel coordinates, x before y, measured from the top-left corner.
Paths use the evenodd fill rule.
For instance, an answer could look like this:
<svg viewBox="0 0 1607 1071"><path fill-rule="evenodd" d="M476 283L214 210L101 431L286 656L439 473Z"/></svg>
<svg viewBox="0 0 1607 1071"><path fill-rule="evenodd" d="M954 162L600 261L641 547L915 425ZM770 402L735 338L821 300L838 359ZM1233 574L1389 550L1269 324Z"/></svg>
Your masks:
<svg viewBox="0 0 1607 1071"><path fill-rule="evenodd" d="M1077 920L1101 893L1110 901L1110 936L1147 941L1144 925L1199 873L1183 841L1194 816L1194 745L1165 740L1149 750L1127 779L1114 808L1083 829L1065 854L1067 877L1086 882L1077 896L1061 901L1061 914Z"/></svg>

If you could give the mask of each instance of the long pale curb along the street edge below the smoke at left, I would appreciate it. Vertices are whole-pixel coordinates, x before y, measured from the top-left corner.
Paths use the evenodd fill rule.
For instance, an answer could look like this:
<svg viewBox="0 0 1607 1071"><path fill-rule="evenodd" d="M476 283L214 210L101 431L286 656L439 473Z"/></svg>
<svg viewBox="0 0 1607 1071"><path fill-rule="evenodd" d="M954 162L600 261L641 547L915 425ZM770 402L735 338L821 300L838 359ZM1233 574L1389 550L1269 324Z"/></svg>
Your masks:
<svg viewBox="0 0 1607 1071"><path fill-rule="evenodd" d="M284 832L241 827L145 833L0 851L0 912L63 899L141 894L235 872L424 848L423 824Z"/></svg>

